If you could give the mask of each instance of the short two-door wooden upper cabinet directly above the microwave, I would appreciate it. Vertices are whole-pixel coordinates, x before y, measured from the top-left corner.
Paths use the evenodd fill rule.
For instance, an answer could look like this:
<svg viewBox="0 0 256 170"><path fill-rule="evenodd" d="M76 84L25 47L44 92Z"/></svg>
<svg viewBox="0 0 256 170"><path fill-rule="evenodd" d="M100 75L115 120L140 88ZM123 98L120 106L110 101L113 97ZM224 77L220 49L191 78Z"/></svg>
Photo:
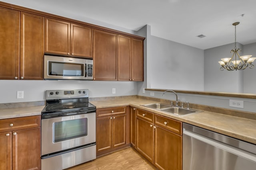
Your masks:
<svg viewBox="0 0 256 170"><path fill-rule="evenodd" d="M92 58L92 28L45 18L44 52Z"/></svg>

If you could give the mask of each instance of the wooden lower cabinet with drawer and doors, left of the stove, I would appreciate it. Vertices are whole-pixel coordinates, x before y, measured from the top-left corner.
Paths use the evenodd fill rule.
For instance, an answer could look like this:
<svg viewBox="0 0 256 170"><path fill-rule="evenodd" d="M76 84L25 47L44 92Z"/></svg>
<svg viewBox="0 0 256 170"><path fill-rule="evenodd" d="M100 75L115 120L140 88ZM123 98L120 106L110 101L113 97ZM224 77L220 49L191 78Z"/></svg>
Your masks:
<svg viewBox="0 0 256 170"><path fill-rule="evenodd" d="M1 119L0 132L0 170L41 169L40 116Z"/></svg>

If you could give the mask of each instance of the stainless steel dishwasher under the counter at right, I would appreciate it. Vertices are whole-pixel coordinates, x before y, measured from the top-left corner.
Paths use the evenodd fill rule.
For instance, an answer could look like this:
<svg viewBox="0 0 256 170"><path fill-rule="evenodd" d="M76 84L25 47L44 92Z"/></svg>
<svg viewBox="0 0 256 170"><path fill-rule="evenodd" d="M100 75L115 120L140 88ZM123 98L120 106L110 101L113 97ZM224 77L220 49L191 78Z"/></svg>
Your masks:
<svg viewBox="0 0 256 170"><path fill-rule="evenodd" d="M183 123L183 170L256 170L256 145Z"/></svg>

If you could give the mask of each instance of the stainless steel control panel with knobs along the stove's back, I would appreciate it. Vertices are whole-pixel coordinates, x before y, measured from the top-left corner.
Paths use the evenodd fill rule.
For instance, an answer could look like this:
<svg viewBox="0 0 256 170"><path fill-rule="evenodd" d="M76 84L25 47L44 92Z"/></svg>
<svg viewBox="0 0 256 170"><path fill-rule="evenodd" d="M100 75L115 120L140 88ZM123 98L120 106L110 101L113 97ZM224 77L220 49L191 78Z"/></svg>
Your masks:
<svg viewBox="0 0 256 170"><path fill-rule="evenodd" d="M46 100L65 98L88 98L88 89L46 90Z"/></svg>

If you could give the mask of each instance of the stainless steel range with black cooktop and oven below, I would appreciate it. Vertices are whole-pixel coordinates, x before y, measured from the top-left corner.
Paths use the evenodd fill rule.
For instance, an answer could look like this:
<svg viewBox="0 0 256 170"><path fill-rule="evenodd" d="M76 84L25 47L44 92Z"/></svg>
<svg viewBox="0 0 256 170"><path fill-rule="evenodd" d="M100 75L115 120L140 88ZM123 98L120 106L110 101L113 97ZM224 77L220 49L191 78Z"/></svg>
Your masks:
<svg viewBox="0 0 256 170"><path fill-rule="evenodd" d="M96 107L88 97L88 89L46 90L42 170L63 170L96 159Z"/></svg>

